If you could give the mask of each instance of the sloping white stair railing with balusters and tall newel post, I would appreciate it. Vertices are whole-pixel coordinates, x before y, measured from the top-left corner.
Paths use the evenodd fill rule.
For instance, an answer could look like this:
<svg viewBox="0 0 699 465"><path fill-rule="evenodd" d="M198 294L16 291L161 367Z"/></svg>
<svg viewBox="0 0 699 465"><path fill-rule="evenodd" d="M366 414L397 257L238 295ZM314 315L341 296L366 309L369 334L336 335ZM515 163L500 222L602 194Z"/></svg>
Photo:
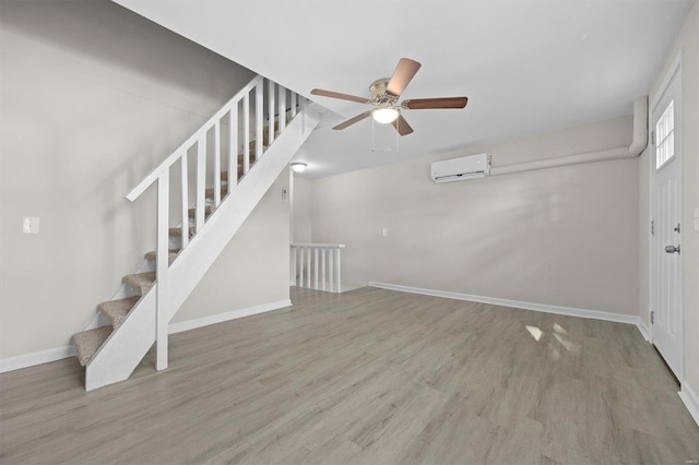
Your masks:
<svg viewBox="0 0 699 465"><path fill-rule="evenodd" d="M266 84L266 88L265 88ZM266 92L265 92L266 91ZM251 105L253 100L253 105ZM287 110L287 102L292 104ZM206 220L206 178L208 174L213 177L213 201L214 207L220 206L226 195L235 190L240 179L251 169L252 164L258 162L266 147L272 144L276 134L285 129L297 111L306 108L307 99L297 96L294 92L263 79L256 76L240 92L238 92L228 103L226 103L209 121L206 121L197 132L194 132L185 143L182 143L165 162L151 171L126 198L131 202L135 201L147 188L157 182L157 259L156 259L156 369L167 368L167 325L175 314L171 308L169 279L168 252L169 252L169 225L177 223L181 225L180 252L190 242L189 210L194 207L193 235L200 233ZM266 104L266 105L265 105ZM297 105L300 108L297 109ZM275 115L277 131L275 131ZM289 117L289 121L287 121ZM265 132L265 122L268 131ZM228 124L227 135L223 133L222 127ZM211 132L213 131L213 134ZM208 150L206 141L213 135L213 148ZM254 138L252 140L251 138ZM266 140L265 140L266 139ZM222 153L222 147L227 144L226 153ZM188 153L196 153L194 167L190 169ZM241 151L241 152L240 152ZM253 152L251 152L253 151ZM239 154L242 153L241 166L238 165ZM213 158L213 162L211 162ZM208 168L208 160L210 166ZM252 164L251 164L252 162ZM171 169L177 163L180 164L180 172L177 176L180 182L181 192L173 193L170 187ZM208 171L210 169L210 171ZM227 180L222 181L222 172L227 170ZM240 179L239 179L240 170ZM190 172L191 171L191 172ZM190 180L193 178L193 195L190 192ZM226 182L227 186L223 184ZM225 187L224 187L225 186ZM179 194L180 205L177 211L179 218L170 218L171 196ZM193 205L190 198L193 196ZM215 213L214 213L215 214ZM179 220L179 222L178 222Z"/></svg>

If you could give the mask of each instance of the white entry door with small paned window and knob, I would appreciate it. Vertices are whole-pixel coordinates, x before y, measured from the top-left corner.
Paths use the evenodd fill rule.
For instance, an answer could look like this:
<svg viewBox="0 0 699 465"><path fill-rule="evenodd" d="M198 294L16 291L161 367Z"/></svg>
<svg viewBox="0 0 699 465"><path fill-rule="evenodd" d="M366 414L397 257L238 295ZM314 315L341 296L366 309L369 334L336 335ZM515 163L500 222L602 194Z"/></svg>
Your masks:
<svg viewBox="0 0 699 465"><path fill-rule="evenodd" d="M653 107L653 344L683 379L680 74L675 70Z"/></svg>

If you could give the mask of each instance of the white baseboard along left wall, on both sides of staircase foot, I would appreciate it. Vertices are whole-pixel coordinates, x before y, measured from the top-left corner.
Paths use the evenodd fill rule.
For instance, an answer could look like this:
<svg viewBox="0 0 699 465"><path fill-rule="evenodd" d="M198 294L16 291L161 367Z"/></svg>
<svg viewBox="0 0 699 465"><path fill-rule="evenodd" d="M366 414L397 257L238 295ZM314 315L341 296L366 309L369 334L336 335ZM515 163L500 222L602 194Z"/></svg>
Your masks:
<svg viewBox="0 0 699 465"><path fill-rule="evenodd" d="M226 313L214 314L211 317L198 318L196 320L181 321L169 325L169 334L180 333L182 331L194 330L197 327L208 326L210 324L222 323L237 318L249 317L251 314L264 313L268 311L279 310L291 307L291 300L280 300L277 302L264 303L261 306L249 307L247 309L234 310ZM3 358L0 360L0 373L5 371L14 371L22 368L34 367L35 365L48 363L49 361L61 360L63 358L73 357L75 347L63 346L46 350L39 350L31 354L19 355L16 357Z"/></svg>

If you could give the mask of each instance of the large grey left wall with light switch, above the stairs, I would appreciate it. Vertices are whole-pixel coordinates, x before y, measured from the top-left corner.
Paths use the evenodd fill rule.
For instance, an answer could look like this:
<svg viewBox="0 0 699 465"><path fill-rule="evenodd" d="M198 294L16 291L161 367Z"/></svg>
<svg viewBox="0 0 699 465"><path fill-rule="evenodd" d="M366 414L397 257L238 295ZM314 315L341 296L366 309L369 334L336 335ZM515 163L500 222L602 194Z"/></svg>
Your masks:
<svg viewBox="0 0 699 465"><path fill-rule="evenodd" d="M123 195L252 76L106 0L0 2L0 358L85 327L155 243Z"/></svg>

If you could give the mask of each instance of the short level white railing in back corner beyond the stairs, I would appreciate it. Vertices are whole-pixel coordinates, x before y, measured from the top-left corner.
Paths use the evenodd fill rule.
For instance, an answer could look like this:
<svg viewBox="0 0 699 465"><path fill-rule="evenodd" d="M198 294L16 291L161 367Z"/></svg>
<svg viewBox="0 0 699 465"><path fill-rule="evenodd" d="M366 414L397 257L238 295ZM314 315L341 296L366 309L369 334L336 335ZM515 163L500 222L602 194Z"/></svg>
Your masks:
<svg viewBox="0 0 699 465"><path fill-rule="evenodd" d="M292 286L340 293L344 243L292 243Z"/></svg>

